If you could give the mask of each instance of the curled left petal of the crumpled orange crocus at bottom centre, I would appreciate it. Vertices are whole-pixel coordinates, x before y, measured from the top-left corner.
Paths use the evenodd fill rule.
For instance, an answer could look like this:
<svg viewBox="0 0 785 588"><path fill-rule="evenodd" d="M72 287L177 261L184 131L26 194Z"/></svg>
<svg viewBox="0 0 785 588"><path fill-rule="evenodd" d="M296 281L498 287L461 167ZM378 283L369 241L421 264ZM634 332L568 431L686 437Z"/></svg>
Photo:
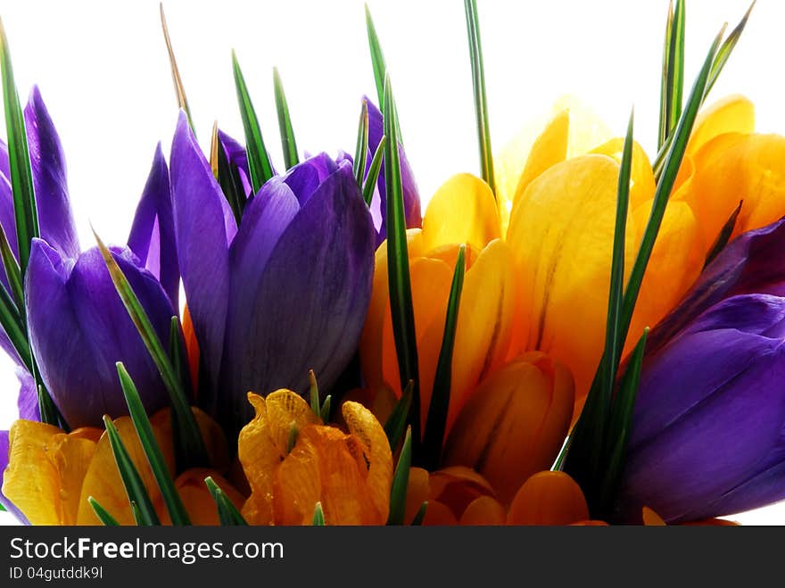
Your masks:
<svg viewBox="0 0 785 588"><path fill-rule="evenodd" d="M292 426L302 431L321 421L308 403L290 390L277 390L266 399L248 393L248 402L256 414L237 439L237 453L252 491L242 513L251 525L270 525L275 474L286 456L289 432Z"/></svg>

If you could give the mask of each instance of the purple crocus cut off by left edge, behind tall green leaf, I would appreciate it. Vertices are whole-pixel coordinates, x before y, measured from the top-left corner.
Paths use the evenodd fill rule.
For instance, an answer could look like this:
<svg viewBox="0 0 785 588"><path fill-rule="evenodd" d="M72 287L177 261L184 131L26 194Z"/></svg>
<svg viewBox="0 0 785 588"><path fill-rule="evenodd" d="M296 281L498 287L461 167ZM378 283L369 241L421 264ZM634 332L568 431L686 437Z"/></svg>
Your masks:
<svg viewBox="0 0 785 588"><path fill-rule="evenodd" d="M75 257L79 253L79 244L70 210L65 158L62 154L60 137L57 135L38 87L33 87L30 93L28 104L24 109L24 119L41 236L58 252L68 257ZM0 225L8 238L13 254L18 256L8 148L2 142L0 142ZM4 271L0 271L0 283L8 289L8 279ZM2 331L0 331L0 346L12 360L21 365L19 356Z"/></svg>

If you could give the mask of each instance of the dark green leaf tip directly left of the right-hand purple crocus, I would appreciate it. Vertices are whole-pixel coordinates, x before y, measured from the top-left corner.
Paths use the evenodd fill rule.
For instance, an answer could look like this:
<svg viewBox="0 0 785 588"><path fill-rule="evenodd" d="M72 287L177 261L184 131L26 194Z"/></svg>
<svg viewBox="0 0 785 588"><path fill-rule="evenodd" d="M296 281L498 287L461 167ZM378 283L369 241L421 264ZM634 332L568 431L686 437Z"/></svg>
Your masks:
<svg viewBox="0 0 785 588"><path fill-rule="evenodd" d="M619 384L616 398L614 399L613 411L610 417L610 427L607 435L607 448L605 455L605 476L602 482L600 495L604 499L603 510L607 513L612 509L616 502L619 482L624 473L624 460L627 455L627 443L630 440L632 430L632 410L635 408L635 398L640 384L640 369L643 365L643 354L646 351L646 338L649 335L649 328L640 335L638 344L632 351L630 361L624 371Z"/></svg>

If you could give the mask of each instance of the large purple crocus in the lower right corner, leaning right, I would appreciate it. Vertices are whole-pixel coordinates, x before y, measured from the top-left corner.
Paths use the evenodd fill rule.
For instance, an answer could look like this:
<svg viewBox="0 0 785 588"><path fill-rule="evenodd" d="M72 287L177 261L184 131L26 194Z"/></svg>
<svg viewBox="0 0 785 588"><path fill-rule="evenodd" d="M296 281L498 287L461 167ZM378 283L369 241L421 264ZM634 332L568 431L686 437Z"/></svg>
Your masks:
<svg viewBox="0 0 785 588"><path fill-rule="evenodd" d="M667 522L785 499L785 223L729 244L652 331L618 501ZM776 253L776 254L773 254Z"/></svg>

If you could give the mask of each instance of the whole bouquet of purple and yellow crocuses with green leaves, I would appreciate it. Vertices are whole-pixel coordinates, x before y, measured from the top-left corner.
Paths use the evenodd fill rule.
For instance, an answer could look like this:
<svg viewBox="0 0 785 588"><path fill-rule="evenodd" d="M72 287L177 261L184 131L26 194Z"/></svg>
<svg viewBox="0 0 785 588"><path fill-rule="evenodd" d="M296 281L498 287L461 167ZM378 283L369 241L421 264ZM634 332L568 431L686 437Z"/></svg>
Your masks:
<svg viewBox="0 0 785 588"><path fill-rule="evenodd" d="M421 203L367 10L351 153L276 169L178 124L126 244L78 243L36 87L2 35L0 346L20 419L0 501L33 525L731 524L785 498L785 137L707 100L748 21L684 75L670 6L656 151L569 104ZM750 7L750 11L752 7ZM376 100L376 102L375 102ZM405 128L405 125L404 125ZM269 138L269 137L268 137Z"/></svg>

